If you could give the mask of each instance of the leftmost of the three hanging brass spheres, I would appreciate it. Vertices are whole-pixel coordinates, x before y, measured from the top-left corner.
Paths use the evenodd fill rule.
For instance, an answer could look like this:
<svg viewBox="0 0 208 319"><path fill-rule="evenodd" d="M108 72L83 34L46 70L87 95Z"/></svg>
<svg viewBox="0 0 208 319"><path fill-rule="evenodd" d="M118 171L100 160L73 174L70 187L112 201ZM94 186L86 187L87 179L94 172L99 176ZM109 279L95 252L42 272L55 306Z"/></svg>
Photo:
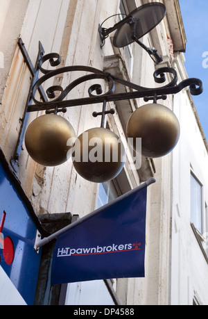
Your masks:
<svg viewBox="0 0 208 319"><path fill-rule="evenodd" d="M28 126L25 145L35 162L56 166L67 161L71 148L67 146L67 140L72 137L75 138L75 131L64 117L46 114L37 117Z"/></svg>

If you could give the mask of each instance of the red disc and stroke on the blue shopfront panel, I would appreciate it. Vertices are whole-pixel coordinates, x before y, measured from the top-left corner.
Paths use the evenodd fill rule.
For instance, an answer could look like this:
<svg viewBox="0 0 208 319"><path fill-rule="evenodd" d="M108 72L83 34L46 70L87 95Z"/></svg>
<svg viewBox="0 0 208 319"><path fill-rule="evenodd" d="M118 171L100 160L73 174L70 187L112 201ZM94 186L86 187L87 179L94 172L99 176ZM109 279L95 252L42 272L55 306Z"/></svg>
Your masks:
<svg viewBox="0 0 208 319"><path fill-rule="evenodd" d="M14 244L12 242L12 239L7 236L6 238L3 238L2 230L3 230L3 224L5 222L6 218L6 212L3 211L3 216L1 219L1 225L0 225L0 249L3 249L3 258L6 261L8 265L12 264L12 261L15 256L15 249ZM1 257L0 257L0 264L1 264Z"/></svg>

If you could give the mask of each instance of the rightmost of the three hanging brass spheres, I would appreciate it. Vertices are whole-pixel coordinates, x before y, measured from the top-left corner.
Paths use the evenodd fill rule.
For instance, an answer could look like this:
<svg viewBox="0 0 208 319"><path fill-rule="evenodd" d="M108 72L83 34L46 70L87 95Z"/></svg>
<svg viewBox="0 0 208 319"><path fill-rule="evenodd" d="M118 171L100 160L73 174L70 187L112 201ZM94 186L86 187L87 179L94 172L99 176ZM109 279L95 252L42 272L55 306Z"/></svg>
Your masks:
<svg viewBox="0 0 208 319"><path fill-rule="evenodd" d="M161 104L146 104L132 113L127 124L128 138L141 138L141 155L158 158L170 153L180 138L175 114ZM135 145L135 143L134 143Z"/></svg>

